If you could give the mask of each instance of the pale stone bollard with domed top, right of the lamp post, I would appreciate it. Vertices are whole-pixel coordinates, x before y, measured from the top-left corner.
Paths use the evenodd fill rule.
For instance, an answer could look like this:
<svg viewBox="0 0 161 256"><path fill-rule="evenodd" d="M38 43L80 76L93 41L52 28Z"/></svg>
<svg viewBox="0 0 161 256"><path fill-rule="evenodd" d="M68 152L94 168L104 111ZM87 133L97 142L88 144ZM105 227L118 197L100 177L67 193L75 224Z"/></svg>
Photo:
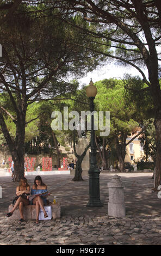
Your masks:
<svg viewBox="0 0 161 256"><path fill-rule="evenodd" d="M123 184L120 176L114 175L112 181L107 184L109 188L108 215L122 218L126 216Z"/></svg>

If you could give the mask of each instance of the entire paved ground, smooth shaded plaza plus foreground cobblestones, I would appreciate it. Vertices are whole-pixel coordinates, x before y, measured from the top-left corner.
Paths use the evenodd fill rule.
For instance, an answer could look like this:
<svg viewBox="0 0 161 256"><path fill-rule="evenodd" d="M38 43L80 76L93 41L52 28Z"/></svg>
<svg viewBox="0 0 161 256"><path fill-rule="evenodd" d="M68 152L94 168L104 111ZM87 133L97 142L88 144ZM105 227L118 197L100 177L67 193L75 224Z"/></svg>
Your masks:
<svg viewBox="0 0 161 256"><path fill-rule="evenodd" d="M52 200L61 203L61 218L56 221L28 220L24 223L4 217L17 184L0 176L0 245L161 245L160 199L153 192L152 173L119 173L125 184L126 217L108 216L107 182L114 173L101 173L102 208L87 208L88 176L73 182L70 175L43 175ZM32 186L34 176L29 176Z"/></svg>

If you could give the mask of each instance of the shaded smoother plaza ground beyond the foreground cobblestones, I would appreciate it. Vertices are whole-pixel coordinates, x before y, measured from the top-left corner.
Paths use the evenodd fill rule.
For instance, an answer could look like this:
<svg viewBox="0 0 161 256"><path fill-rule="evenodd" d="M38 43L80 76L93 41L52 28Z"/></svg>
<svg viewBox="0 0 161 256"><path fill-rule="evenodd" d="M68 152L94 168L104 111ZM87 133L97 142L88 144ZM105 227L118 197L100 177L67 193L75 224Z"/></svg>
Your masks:
<svg viewBox="0 0 161 256"><path fill-rule="evenodd" d="M114 174L113 174L114 175ZM57 196L61 203L61 215L99 215L108 214L108 187L107 183L112 179L112 174L100 175L100 197L103 203L102 208L88 208L86 205L89 200L89 181L88 176L83 176L84 181L74 182L71 175L43 175L42 179L51 192L49 200L52 201ZM125 205L126 215L160 215L160 199L157 192L152 190L152 173L133 174L119 173L121 181L125 185ZM34 184L35 176L27 177L29 185ZM2 199L0 199L0 216L8 212L8 206L11 204L18 183L11 181L10 177L0 177L2 186Z"/></svg>

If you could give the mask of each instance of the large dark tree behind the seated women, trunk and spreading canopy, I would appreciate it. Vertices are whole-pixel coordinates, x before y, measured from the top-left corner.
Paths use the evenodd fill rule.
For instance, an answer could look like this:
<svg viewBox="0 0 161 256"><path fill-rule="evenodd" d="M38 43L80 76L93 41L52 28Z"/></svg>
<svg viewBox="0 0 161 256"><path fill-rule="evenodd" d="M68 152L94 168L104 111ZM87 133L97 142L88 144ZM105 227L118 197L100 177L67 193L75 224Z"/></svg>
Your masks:
<svg viewBox="0 0 161 256"><path fill-rule="evenodd" d="M75 27L57 17L53 19L49 13L40 17L39 11L45 11L45 5L20 5L3 24L0 36L3 48L0 92L8 93L14 112L12 115L0 105L0 124L15 162L15 180L23 176L25 126L30 121L26 120L27 106L47 97L76 93L75 84L67 77L81 76L103 59L77 44L78 41L86 44L86 38ZM81 22L69 19L72 23ZM15 123L15 139L10 136L4 114Z"/></svg>

